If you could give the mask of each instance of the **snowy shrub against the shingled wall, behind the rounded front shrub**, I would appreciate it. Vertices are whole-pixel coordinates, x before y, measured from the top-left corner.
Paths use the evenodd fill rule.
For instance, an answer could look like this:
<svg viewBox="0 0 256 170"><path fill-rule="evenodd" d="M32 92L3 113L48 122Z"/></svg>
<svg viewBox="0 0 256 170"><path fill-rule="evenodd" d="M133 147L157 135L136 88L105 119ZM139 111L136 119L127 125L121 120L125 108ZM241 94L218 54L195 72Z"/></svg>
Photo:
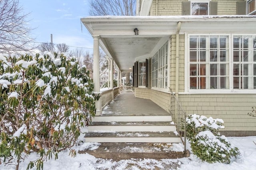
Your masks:
<svg viewBox="0 0 256 170"><path fill-rule="evenodd" d="M222 119L207 118L204 115L188 115L186 117L187 137L194 138L199 132L209 130L218 135L219 129L224 129Z"/></svg>

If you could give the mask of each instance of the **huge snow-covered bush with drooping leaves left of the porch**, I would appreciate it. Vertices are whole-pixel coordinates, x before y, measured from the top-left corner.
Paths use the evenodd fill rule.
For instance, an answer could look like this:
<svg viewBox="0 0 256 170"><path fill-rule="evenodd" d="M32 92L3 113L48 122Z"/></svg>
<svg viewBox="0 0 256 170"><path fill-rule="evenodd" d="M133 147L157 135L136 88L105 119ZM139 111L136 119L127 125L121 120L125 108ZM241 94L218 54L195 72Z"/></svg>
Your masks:
<svg viewBox="0 0 256 170"><path fill-rule="evenodd" d="M95 114L93 88L86 67L63 54L0 55L0 164L37 152L28 168L41 169L70 149Z"/></svg>

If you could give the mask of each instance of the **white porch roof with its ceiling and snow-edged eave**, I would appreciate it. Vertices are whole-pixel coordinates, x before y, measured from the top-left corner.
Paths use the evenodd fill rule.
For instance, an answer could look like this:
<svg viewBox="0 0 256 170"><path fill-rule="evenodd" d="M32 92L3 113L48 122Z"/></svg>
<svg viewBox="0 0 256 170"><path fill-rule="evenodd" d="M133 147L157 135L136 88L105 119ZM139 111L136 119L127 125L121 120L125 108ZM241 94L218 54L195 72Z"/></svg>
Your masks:
<svg viewBox="0 0 256 170"><path fill-rule="evenodd" d="M91 16L81 18L100 47L122 72L132 72L135 61L154 54L163 39L184 33L255 33L256 16ZM134 28L139 35L134 35Z"/></svg>

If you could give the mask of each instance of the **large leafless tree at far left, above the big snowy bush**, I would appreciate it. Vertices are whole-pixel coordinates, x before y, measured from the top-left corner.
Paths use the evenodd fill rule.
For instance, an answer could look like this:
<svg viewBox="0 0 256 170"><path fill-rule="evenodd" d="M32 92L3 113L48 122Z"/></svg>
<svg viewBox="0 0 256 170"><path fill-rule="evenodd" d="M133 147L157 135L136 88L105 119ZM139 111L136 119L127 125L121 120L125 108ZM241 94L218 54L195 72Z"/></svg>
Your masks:
<svg viewBox="0 0 256 170"><path fill-rule="evenodd" d="M18 0L0 0L0 52L19 53L29 51L34 39Z"/></svg>

